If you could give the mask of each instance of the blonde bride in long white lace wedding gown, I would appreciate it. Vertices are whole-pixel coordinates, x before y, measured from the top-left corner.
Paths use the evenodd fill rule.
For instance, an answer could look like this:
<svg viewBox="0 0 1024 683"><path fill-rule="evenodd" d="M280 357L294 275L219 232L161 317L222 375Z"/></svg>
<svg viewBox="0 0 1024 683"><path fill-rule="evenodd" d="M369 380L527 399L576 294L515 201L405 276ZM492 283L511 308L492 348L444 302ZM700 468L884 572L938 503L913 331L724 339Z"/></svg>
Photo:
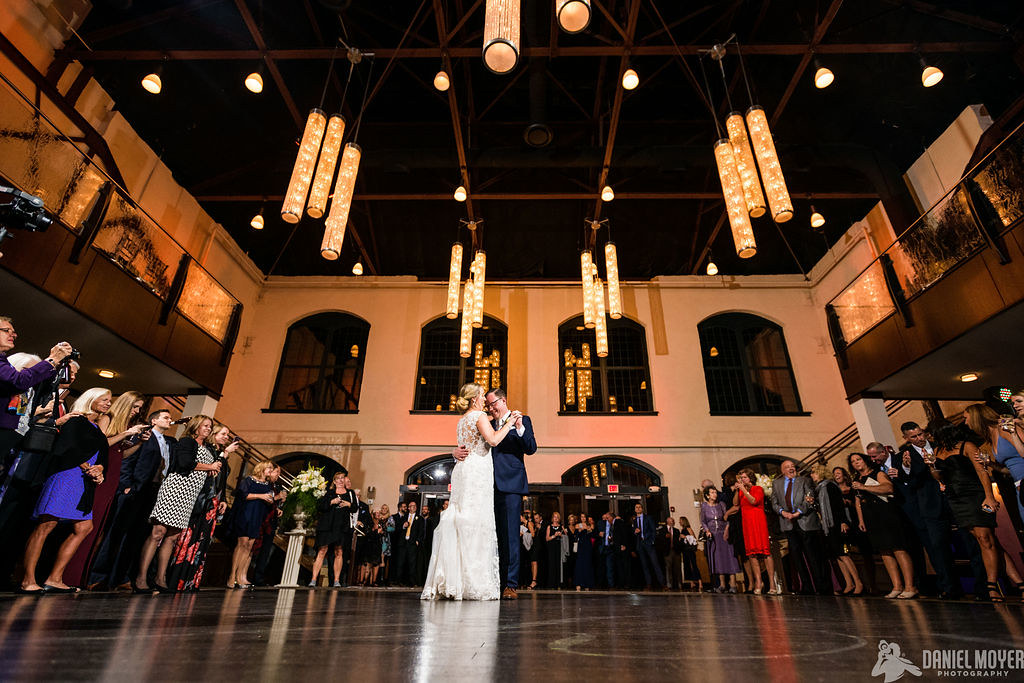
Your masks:
<svg viewBox="0 0 1024 683"><path fill-rule="evenodd" d="M464 384L456 405L463 412L457 434L469 457L452 470L452 498L434 531L427 581L420 598L436 600L497 600L498 536L495 532L495 466L490 447L515 425L513 413L495 431L484 411L484 389Z"/></svg>

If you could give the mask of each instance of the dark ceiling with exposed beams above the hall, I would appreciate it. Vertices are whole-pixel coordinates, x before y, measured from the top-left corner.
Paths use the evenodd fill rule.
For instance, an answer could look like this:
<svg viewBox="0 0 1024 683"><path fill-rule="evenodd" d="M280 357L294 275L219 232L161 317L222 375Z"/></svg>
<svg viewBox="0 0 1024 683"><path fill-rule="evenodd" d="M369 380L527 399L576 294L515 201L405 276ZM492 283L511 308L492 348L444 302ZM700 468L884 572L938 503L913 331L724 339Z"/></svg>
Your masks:
<svg viewBox="0 0 1024 683"><path fill-rule="evenodd" d="M593 0L579 35L554 29L551 0L523 0L523 55L506 76L481 62L479 0L95 4L79 31L88 48L73 39L67 54L94 70L175 178L272 274L348 274L361 260L368 273L445 279L449 244L457 233L467 239L458 226L472 212L483 220L488 280L574 279L609 155L616 199L600 217L609 219L624 279L702 272L709 247L722 273L800 272L885 185L901 184L899 173L965 106L984 103L997 117L1024 91L1014 59L1019 0ZM745 260L728 225L717 229L717 135L700 89L700 50L732 34L754 97L773 121L796 207L781 230L754 221L759 251ZM293 234L279 213L301 124L321 101L339 37L376 56L355 69L342 108L351 131L369 78L356 201L342 256L330 262L318 255L323 220L306 216ZM442 45L454 63L452 98L430 84ZM938 86L922 86L915 46L944 71ZM836 74L827 89L812 84L812 49ZM261 57L268 70L256 95L243 78ZM162 58L164 89L151 95L139 81ZM618 85L626 60L640 75L633 91ZM721 116L726 88L717 65L705 61ZM745 109L734 51L724 66L732 103ZM341 105L347 70L342 51L326 90L329 113ZM536 122L553 131L546 147L524 142ZM456 124L466 204L451 199ZM811 197L827 219L824 236L808 224ZM263 198L268 219L256 231L249 220Z"/></svg>

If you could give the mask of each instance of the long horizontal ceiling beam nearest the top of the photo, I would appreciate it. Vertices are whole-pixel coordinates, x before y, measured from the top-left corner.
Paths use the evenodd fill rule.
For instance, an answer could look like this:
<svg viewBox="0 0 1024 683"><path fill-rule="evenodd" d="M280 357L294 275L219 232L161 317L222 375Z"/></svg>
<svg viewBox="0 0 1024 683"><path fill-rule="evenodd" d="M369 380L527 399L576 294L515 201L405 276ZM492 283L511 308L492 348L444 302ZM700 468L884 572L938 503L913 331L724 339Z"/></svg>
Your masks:
<svg viewBox="0 0 1024 683"><path fill-rule="evenodd" d="M710 50L712 45L680 45L683 54L697 55ZM378 57L401 59L436 59L436 47L367 47ZM823 43L814 48L817 54L893 54L910 53L916 50L927 53L939 52L1009 52L1014 49L1010 40L986 40L973 42L934 42L934 43ZM559 57L600 57L622 56L626 52L634 56L670 56L677 54L672 45L634 45L628 49L623 45L585 45L561 46ZM223 49L223 50L84 50L81 48L63 49L60 52L80 61L159 61L165 56L179 60L216 60L216 59L259 59L264 54L274 60L287 59L330 59L334 48L306 47L294 49ZM762 43L743 45L743 54L794 56L807 52L807 43ZM451 57L480 56L480 47L453 47L449 49ZM544 47L524 47L523 57L550 57L551 49Z"/></svg>

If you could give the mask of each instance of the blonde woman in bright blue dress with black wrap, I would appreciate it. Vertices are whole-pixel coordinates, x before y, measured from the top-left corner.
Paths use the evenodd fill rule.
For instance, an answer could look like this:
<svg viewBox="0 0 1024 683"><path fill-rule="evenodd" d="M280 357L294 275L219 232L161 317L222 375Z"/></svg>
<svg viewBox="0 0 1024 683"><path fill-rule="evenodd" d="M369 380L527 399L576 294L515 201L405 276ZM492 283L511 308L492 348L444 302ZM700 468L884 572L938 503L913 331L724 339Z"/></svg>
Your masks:
<svg viewBox="0 0 1024 683"><path fill-rule="evenodd" d="M88 389L72 408L76 415L57 433L51 452L51 469L55 471L46 479L33 513L39 522L25 550L22 593L74 593L79 590L65 584L63 571L79 544L92 530L93 497L96 486L103 481L106 465L106 439L96 422L111 409L111 402L110 390ZM56 528L58 521L72 522L72 535L60 544L56 561L40 586L36 583L36 565L46 537Z"/></svg>

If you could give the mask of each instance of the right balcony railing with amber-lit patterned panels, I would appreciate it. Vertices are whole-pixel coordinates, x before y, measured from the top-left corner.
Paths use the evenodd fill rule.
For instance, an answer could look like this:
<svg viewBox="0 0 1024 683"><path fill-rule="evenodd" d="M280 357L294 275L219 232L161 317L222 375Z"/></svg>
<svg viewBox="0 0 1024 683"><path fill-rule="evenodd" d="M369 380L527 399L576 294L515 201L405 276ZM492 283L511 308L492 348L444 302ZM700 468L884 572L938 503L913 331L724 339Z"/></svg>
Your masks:
<svg viewBox="0 0 1024 683"><path fill-rule="evenodd" d="M825 306L838 352L972 256L992 248L1024 217L1024 124ZM910 322L907 321L909 324Z"/></svg>

